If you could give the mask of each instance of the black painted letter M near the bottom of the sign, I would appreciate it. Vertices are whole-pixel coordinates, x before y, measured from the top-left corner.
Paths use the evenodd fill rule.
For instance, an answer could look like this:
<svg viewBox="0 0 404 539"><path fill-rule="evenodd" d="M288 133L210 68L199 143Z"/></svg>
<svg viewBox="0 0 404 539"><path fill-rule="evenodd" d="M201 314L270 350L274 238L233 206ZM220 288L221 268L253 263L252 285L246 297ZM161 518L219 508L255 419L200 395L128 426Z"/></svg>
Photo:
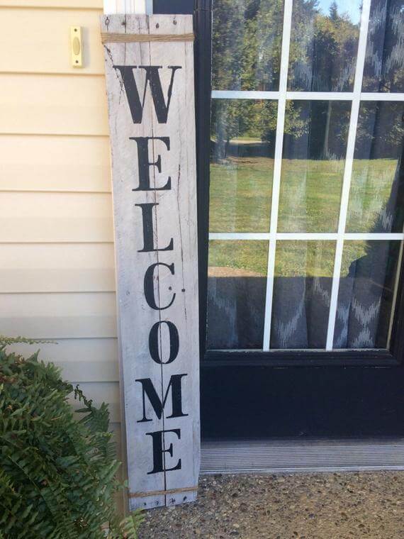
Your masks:
<svg viewBox="0 0 404 539"><path fill-rule="evenodd" d="M169 379L169 384L167 386L167 391L164 395L163 401L160 400L150 378L135 380L135 382L140 382L140 384L142 384L143 418L138 420L138 423L152 421L152 419L148 419L146 416L146 396L147 399L149 399L157 418L162 418L162 413L170 390L172 391L172 414L171 416L167 416L167 419L188 416L188 413L183 413L182 411L181 379L184 376L186 376L186 374L172 375L172 377Z"/></svg>

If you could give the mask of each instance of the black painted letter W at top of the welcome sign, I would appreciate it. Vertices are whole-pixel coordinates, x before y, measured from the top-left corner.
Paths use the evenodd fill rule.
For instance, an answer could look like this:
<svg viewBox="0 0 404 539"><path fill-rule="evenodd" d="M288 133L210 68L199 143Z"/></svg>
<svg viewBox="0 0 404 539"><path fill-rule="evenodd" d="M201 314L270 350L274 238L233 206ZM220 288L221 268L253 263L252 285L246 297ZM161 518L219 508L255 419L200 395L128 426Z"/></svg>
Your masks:
<svg viewBox="0 0 404 539"><path fill-rule="evenodd" d="M161 65L114 65L113 67L116 70L119 70L120 76L122 77L133 123L142 123L147 84L150 84L150 90L152 91L157 121L159 123L167 123L169 104L172 96L172 86L174 84L174 75L176 70L181 70L181 66L168 66L169 70L172 70L172 74L167 93L167 104L164 99L162 82L159 75L159 69L162 68ZM140 99L138 86L135 81L135 75L133 74L133 70L135 70L137 67L139 67L140 70L145 70L146 72L145 88L143 89L142 99Z"/></svg>

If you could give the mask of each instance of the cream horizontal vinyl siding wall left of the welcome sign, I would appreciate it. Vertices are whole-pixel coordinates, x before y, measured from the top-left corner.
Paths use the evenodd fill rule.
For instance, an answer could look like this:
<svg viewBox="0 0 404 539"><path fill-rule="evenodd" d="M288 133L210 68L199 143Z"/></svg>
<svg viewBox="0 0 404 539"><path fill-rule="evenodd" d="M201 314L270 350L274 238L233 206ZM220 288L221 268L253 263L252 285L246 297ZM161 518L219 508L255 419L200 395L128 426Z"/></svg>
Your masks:
<svg viewBox="0 0 404 539"><path fill-rule="evenodd" d="M120 421L102 0L0 0L0 333ZM69 26L84 28L84 67Z"/></svg>

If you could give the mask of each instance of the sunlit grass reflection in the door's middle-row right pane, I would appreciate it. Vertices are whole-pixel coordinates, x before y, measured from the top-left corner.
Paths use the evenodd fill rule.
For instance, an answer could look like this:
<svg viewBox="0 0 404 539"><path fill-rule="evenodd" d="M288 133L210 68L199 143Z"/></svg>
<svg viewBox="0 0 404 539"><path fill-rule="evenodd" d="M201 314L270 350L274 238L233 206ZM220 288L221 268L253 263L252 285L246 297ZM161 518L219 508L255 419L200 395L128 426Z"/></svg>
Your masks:
<svg viewBox="0 0 404 539"><path fill-rule="evenodd" d="M372 231L390 196L396 170L395 159L354 160L347 232Z"/></svg>

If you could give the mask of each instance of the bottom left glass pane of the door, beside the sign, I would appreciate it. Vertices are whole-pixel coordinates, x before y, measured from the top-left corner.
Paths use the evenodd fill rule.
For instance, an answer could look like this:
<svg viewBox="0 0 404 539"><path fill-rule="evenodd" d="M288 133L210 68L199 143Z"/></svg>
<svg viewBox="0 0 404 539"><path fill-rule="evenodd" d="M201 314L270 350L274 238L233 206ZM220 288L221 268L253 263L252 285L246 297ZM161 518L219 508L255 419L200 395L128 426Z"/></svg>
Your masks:
<svg viewBox="0 0 404 539"><path fill-rule="evenodd" d="M268 242L212 240L208 268L208 348L260 348Z"/></svg>

